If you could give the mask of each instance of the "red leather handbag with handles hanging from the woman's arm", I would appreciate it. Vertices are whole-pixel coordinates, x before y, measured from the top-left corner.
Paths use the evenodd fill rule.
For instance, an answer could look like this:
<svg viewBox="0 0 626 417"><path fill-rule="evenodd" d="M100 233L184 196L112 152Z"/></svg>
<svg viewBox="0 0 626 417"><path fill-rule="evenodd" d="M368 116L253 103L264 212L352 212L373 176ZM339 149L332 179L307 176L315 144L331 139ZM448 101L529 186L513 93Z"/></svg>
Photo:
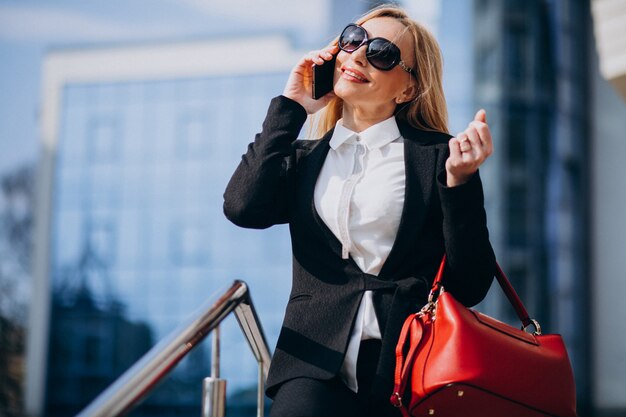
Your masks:
<svg viewBox="0 0 626 417"><path fill-rule="evenodd" d="M391 403L404 417L576 416L561 336L541 334L499 266L496 278L522 329L463 306L441 285L445 259L428 304L404 322Z"/></svg>

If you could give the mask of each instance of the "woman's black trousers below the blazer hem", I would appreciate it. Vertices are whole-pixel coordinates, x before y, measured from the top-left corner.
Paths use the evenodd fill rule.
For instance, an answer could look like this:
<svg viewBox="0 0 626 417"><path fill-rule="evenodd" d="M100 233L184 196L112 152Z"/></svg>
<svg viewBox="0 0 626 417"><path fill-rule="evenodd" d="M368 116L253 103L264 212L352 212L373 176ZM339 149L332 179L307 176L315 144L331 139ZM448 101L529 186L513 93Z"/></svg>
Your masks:
<svg viewBox="0 0 626 417"><path fill-rule="evenodd" d="M369 395L380 355L380 340L361 342L357 360L359 392L354 393L339 376L330 380L296 378L280 386L270 417L397 417L389 402Z"/></svg>

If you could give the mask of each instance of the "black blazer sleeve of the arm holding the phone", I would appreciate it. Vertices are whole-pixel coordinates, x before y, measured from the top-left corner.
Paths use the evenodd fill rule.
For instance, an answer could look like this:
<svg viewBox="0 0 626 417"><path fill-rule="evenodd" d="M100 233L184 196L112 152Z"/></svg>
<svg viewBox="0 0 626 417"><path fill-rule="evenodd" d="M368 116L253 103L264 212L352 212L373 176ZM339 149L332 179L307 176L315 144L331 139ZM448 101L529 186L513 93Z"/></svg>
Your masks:
<svg viewBox="0 0 626 417"><path fill-rule="evenodd" d="M248 145L224 192L224 214L241 227L287 222L288 161L307 114L284 96L272 99L261 133Z"/></svg>

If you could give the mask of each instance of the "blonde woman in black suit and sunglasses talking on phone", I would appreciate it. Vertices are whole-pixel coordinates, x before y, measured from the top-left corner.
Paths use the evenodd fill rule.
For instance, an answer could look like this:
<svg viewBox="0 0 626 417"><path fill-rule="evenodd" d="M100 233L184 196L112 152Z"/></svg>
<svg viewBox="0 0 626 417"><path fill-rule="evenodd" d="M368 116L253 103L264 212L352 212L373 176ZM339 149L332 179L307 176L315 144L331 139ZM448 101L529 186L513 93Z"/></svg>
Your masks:
<svg viewBox="0 0 626 417"><path fill-rule="evenodd" d="M336 55L334 92L311 67ZM441 56L404 11L380 7L292 70L226 189L235 224L288 223L293 284L267 381L271 416L391 416L394 348L444 253L445 287L482 300L495 260L478 167L485 113L447 133ZM296 140L325 108L319 140Z"/></svg>

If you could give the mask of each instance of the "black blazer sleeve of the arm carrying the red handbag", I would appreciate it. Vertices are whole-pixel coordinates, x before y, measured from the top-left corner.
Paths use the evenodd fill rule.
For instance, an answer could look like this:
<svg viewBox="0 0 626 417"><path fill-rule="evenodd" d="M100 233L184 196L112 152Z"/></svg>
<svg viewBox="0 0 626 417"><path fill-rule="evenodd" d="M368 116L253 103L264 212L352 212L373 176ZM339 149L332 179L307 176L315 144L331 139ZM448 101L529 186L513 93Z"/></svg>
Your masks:
<svg viewBox="0 0 626 417"><path fill-rule="evenodd" d="M447 158L447 153L445 153ZM447 256L444 286L465 306L482 301L495 274L495 255L489 242L480 173L465 184L446 186L444 167L438 176Z"/></svg>

